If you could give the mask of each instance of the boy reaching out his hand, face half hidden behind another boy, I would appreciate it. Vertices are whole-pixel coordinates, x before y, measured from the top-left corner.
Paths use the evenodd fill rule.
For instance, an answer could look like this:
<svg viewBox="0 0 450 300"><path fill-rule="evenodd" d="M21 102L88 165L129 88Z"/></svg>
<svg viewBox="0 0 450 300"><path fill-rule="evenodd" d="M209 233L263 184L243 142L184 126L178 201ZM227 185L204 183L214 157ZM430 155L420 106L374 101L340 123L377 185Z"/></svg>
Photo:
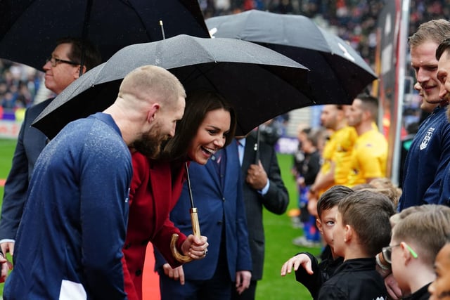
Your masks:
<svg viewBox="0 0 450 300"><path fill-rule="evenodd" d="M335 185L326 190L321 195L319 202L317 202L318 219L316 220L316 225L323 236L323 240L327 244L326 249L321 255L321 263L317 261L314 255L308 252L302 252L286 261L281 267L281 276L291 273L294 268L295 279L307 287L314 299L317 298L323 282L328 280L335 269L344 261L342 257L336 256L333 251L332 230L333 226L335 226L338 203L350 193L353 193L351 188L343 185Z"/></svg>

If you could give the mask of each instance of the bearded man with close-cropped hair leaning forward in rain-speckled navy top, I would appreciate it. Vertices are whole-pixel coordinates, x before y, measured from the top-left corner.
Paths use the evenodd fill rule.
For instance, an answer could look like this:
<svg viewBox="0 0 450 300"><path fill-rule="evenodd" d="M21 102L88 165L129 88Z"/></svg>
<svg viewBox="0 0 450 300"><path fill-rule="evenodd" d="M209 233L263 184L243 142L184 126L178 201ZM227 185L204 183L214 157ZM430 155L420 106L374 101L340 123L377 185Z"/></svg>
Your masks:
<svg viewBox="0 0 450 300"><path fill-rule="evenodd" d="M113 105L70 122L46 145L30 181L4 299L127 299L129 146L173 136L185 97L167 70L139 67L123 79ZM203 255L205 239L188 241L190 253Z"/></svg>

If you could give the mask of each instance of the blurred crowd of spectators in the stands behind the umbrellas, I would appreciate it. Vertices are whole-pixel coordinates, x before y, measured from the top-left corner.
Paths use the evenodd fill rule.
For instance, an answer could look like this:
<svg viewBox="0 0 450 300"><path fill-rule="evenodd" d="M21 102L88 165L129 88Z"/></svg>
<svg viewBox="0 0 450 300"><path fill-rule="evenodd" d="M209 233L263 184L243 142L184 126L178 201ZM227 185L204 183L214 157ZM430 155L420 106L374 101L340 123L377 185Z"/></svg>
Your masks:
<svg viewBox="0 0 450 300"><path fill-rule="evenodd" d="M386 0L385 0L386 1ZM250 9L301 14L348 41L373 65L375 27L383 0L199 0L205 19ZM450 15L450 0L411 0L409 32L424 20ZM45 62L42 62L43 64ZM25 65L0 59L0 119L20 119L23 108L35 101L44 74ZM413 74L413 73L412 73ZM48 94L44 96L46 98ZM36 102L39 102L36 99Z"/></svg>

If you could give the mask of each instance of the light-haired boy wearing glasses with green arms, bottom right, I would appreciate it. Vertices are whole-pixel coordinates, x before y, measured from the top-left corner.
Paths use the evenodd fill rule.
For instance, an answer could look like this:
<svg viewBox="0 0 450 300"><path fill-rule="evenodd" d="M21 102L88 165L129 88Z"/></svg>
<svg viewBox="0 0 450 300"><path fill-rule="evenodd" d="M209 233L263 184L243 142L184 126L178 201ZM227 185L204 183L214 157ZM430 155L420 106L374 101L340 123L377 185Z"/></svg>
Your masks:
<svg viewBox="0 0 450 300"><path fill-rule="evenodd" d="M450 207L436 204L409 207L397 219L390 246L383 248L383 256L391 263L403 299L428 299L428 286L436 278L433 263L450 236Z"/></svg>

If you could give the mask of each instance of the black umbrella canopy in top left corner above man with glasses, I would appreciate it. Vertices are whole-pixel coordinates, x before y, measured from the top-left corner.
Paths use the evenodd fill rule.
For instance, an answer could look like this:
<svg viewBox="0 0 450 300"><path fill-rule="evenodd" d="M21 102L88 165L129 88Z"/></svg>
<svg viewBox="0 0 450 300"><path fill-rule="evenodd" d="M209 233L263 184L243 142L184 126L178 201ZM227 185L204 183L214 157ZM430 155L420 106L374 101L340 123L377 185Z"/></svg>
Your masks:
<svg viewBox="0 0 450 300"><path fill-rule="evenodd" d="M41 69L62 37L88 39L103 61L131 44L210 37L197 0L1 0L0 58Z"/></svg>

